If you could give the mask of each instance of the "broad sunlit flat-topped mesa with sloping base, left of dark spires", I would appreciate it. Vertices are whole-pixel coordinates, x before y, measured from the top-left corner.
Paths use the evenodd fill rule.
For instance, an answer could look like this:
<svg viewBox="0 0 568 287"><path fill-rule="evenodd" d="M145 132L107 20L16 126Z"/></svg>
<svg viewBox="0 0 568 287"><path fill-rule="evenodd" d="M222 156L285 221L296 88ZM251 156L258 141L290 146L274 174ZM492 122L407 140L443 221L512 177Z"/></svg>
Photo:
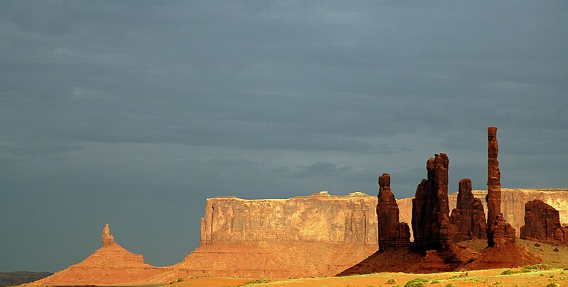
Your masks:
<svg viewBox="0 0 568 287"><path fill-rule="evenodd" d="M377 251L376 206L364 193L209 198L202 246L173 268L179 276L332 276Z"/></svg>

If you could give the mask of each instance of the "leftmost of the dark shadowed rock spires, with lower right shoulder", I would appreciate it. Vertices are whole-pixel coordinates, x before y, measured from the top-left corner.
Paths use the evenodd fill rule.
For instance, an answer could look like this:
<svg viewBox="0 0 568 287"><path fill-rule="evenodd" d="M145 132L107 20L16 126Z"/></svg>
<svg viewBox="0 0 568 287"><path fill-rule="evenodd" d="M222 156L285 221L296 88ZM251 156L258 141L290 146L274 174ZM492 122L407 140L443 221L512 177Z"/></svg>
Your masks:
<svg viewBox="0 0 568 287"><path fill-rule="evenodd" d="M378 186L378 250L408 247L410 228L407 223L398 222L398 205L391 191L391 176L389 174L379 176Z"/></svg>

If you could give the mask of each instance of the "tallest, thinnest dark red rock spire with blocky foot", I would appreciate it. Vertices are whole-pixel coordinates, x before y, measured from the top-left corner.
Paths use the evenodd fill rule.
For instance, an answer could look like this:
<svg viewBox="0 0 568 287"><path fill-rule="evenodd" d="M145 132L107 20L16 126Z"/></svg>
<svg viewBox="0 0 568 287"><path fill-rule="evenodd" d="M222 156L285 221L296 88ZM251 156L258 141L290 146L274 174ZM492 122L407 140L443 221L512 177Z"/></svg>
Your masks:
<svg viewBox="0 0 568 287"><path fill-rule="evenodd" d="M515 228L501 213L501 172L497 156L497 128L487 129L487 244L489 247L515 244Z"/></svg>

